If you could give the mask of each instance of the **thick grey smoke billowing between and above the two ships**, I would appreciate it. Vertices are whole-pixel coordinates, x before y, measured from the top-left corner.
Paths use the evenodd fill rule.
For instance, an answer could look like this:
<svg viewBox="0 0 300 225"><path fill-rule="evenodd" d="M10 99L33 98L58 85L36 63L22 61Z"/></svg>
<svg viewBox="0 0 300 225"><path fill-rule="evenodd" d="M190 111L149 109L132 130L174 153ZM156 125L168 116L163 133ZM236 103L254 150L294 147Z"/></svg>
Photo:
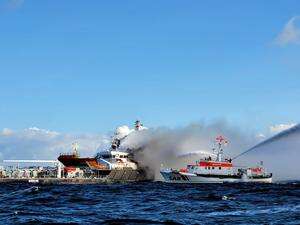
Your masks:
<svg viewBox="0 0 300 225"><path fill-rule="evenodd" d="M230 144L225 149L228 156L234 156L257 143L257 138L226 121L194 123L180 128L156 128L131 133L122 143L123 148L135 149L134 157L148 175L160 180L160 168L180 168L212 154L217 135L224 135Z"/></svg>

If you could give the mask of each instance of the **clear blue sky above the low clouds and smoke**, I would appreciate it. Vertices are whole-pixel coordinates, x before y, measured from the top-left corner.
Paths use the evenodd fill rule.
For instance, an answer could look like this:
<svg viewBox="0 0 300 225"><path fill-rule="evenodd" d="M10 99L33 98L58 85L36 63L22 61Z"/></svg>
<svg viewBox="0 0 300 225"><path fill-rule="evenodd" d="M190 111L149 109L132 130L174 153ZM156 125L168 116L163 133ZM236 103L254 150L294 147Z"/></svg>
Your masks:
<svg viewBox="0 0 300 225"><path fill-rule="evenodd" d="M299 15L299 1L0 0L0 127L298 122Z"/></svg>

